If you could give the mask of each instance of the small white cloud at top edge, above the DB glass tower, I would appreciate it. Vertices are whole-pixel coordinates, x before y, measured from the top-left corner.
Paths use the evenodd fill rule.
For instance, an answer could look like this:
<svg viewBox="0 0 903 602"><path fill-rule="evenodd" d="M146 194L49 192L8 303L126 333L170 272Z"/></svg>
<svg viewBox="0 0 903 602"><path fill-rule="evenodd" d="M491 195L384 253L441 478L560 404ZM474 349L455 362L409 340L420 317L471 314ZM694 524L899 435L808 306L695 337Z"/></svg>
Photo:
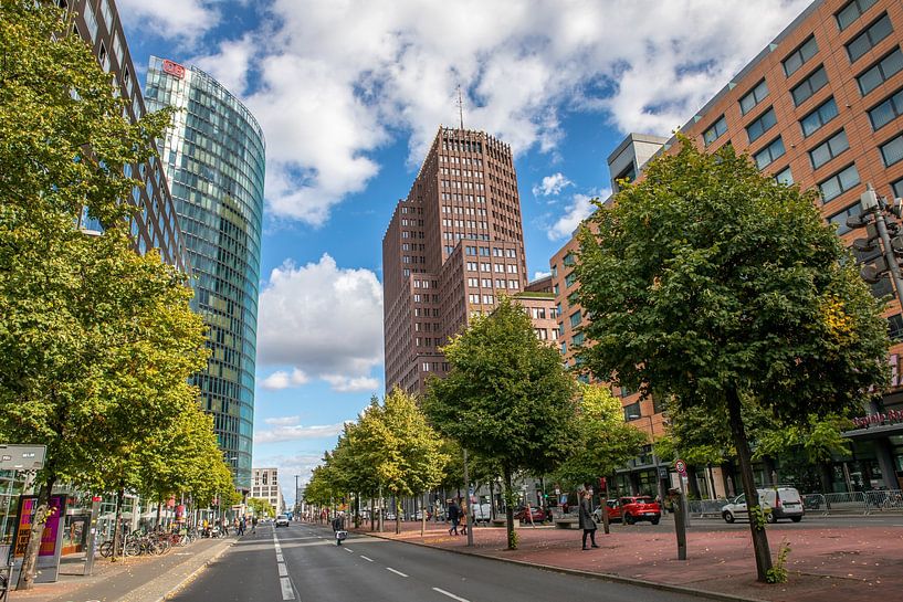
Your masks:
<svg viewBox="0 0 903 602"><path fill-rule="evenodd" d="M172 40L193 40L219 23L212 0L116 0L119 15L129 24Z"/></svg>

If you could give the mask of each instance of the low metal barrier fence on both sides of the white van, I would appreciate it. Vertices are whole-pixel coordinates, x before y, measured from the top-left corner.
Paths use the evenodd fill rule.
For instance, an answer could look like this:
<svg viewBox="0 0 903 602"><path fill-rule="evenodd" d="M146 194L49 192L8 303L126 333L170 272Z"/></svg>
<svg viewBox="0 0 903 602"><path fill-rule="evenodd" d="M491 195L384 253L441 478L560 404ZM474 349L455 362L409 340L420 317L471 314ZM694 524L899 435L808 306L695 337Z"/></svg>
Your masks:
<svg viewBox="0 0 903 602"><path fill-rule="evenodd" d="M805 494L807 513L827 515L903 514L903 490L876 489L847 494ZM728 499L691 499L690 514L695 517L720 517Z"/></svg>

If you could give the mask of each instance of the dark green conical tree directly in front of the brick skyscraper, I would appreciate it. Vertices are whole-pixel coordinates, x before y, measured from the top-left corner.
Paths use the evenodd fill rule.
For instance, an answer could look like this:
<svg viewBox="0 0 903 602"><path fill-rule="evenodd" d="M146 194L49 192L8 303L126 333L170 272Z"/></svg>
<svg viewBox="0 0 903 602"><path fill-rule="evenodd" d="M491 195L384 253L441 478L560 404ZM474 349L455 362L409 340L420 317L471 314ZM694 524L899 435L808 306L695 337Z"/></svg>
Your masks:
<svg viewBox="0 0 903 602"><path fill-rule="evenodd" d="M548 472L570 452L575 380L557 349L536 338L529 317L507 297L443 352L451 370L430 380L424 411L442 434L501 466L507 542L514 549L512 477L521 469Z"/></svg>

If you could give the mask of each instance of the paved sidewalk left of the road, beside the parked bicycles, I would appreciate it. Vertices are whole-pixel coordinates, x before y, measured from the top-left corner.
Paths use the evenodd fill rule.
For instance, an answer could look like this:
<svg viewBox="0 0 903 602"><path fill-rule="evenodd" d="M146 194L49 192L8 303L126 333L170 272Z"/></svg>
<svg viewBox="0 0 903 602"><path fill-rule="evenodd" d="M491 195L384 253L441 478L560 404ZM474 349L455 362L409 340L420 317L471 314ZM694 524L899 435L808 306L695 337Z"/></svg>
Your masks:
<svg viewBox="0 0 903 602"><path fill-rule="evenodd" d="M11 602L160 602L193 579L209 562L225 552L238 539L200 539L166 556L139 556L111 562L97 558L94 574L72 574L82 563L61 566L55 583L39 583L31 591L11 591Z"/></svg>

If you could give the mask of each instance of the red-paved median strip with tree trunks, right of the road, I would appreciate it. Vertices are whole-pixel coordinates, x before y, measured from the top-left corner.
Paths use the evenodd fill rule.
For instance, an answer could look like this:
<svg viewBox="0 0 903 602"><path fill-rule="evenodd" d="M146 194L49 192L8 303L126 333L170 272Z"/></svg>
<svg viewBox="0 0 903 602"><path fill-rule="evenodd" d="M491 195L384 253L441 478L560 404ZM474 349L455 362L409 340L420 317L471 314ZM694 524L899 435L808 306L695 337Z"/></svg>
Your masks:
<svg viewBox="0 0 903 602"><path fill-rule="evenodd" d="M508 551L505 529L477 527L474 547L465 536L449 536L442 522L428 524L420 536L419 522L403 522L395 534L387 524L385 534L366 529L358 532L431 546L456 552L519 561L553 569L586 571L621 581L664 584L695 592L770 602L873 602L882 596L899 600L903 591L903 518L901 525L857 527L807 526L769 528L773 558L781 540L791 551L787 583L768 585L756 581L753 545L748 527L736 530L706 530L706 521L694 521L687 530L687 560L676 560L673 530L653 531L648 524L611 526L596 534L600 549L581 550L581 531L529 526L516 529L517 550ZM672 524L673 526L673 524ZM654 587L654 585L653 585Z"/></svg>

